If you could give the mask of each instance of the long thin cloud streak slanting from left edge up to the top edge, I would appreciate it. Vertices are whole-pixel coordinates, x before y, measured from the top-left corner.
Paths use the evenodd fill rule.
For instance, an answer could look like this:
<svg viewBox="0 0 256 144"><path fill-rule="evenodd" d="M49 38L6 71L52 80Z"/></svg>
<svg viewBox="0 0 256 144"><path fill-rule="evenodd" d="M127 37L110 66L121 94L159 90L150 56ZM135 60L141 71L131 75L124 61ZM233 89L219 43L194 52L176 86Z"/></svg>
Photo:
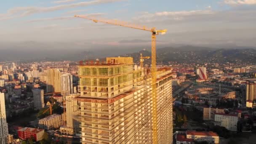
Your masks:
<svg viewBox="0 0 256 144"><path fill-rule="evenodd" d="M63 4L63 5L56 5L51 7L15 7L11 8L7 11L7 13L0 13L0 19L4 19L5 17L22 17L22 16L29 16L34 13L45 13L51 11L62 10L66 8L75 8L75 7L84 7L89 5L99 5L105 3L114 3L123 0L91 0L86 2L80 3L70 3L70 4Z"/></svg>

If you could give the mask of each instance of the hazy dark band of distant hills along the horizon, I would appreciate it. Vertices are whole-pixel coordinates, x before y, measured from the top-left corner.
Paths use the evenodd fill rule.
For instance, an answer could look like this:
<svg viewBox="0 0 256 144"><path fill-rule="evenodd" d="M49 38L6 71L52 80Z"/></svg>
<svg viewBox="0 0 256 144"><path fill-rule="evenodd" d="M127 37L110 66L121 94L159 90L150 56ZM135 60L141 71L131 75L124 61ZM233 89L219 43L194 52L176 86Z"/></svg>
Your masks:
<svg viewBox="0 0 256 144"><path fill-rule="evenodd" d="M150 48L101 48L84 51L82 49L43 50L43 49L5 49L0 50L0 61L80 61L84 59L105 58L109 56L132 56L139 64L140 53L151 56ZM157 61L179 63L205 62L249 62L256 63L256 50L253 48L208 48L191 45L157 48ZM150 59L145 60L149 64Z"/></svg>

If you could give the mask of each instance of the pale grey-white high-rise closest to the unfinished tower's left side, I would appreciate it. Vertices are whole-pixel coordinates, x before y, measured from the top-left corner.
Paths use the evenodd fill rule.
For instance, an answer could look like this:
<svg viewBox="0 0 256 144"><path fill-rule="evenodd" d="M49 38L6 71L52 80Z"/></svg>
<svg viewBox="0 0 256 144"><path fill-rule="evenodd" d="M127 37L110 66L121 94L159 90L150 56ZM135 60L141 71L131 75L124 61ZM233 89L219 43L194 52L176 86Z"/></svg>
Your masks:
<svg viewBox="0 0 256 144"><path fill-rule="evenodd" d="M73 93L73 79L71 74L61 75L61 95L69 96Z"/></svg>

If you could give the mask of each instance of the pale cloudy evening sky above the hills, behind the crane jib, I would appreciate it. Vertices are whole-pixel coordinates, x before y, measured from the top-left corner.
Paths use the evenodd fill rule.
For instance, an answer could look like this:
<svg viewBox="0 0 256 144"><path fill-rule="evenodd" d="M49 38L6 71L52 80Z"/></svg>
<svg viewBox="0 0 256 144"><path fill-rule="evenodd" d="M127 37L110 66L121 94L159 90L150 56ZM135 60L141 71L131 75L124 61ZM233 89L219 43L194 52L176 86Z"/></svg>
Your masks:
<svg viewBox="0 0 256 144"><path fill-rule="evenodd" d="M157 29L157 45L256 45L256 0L0 0L0 49L150 47L151 34L75 18Z"/></svg>

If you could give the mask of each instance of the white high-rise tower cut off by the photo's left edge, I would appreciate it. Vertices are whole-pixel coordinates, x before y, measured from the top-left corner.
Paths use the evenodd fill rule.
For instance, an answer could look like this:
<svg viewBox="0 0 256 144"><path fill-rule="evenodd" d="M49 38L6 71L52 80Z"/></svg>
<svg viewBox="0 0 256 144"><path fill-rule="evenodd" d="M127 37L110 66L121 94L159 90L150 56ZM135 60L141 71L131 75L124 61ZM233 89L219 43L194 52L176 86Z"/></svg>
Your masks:
<svg viewBox="0 0 256 144"><path fill-rule="evenodd" d="M8 136L8 124L6 121L4 93L0 93L0 118L0 144L6 144Z"/></svg>

